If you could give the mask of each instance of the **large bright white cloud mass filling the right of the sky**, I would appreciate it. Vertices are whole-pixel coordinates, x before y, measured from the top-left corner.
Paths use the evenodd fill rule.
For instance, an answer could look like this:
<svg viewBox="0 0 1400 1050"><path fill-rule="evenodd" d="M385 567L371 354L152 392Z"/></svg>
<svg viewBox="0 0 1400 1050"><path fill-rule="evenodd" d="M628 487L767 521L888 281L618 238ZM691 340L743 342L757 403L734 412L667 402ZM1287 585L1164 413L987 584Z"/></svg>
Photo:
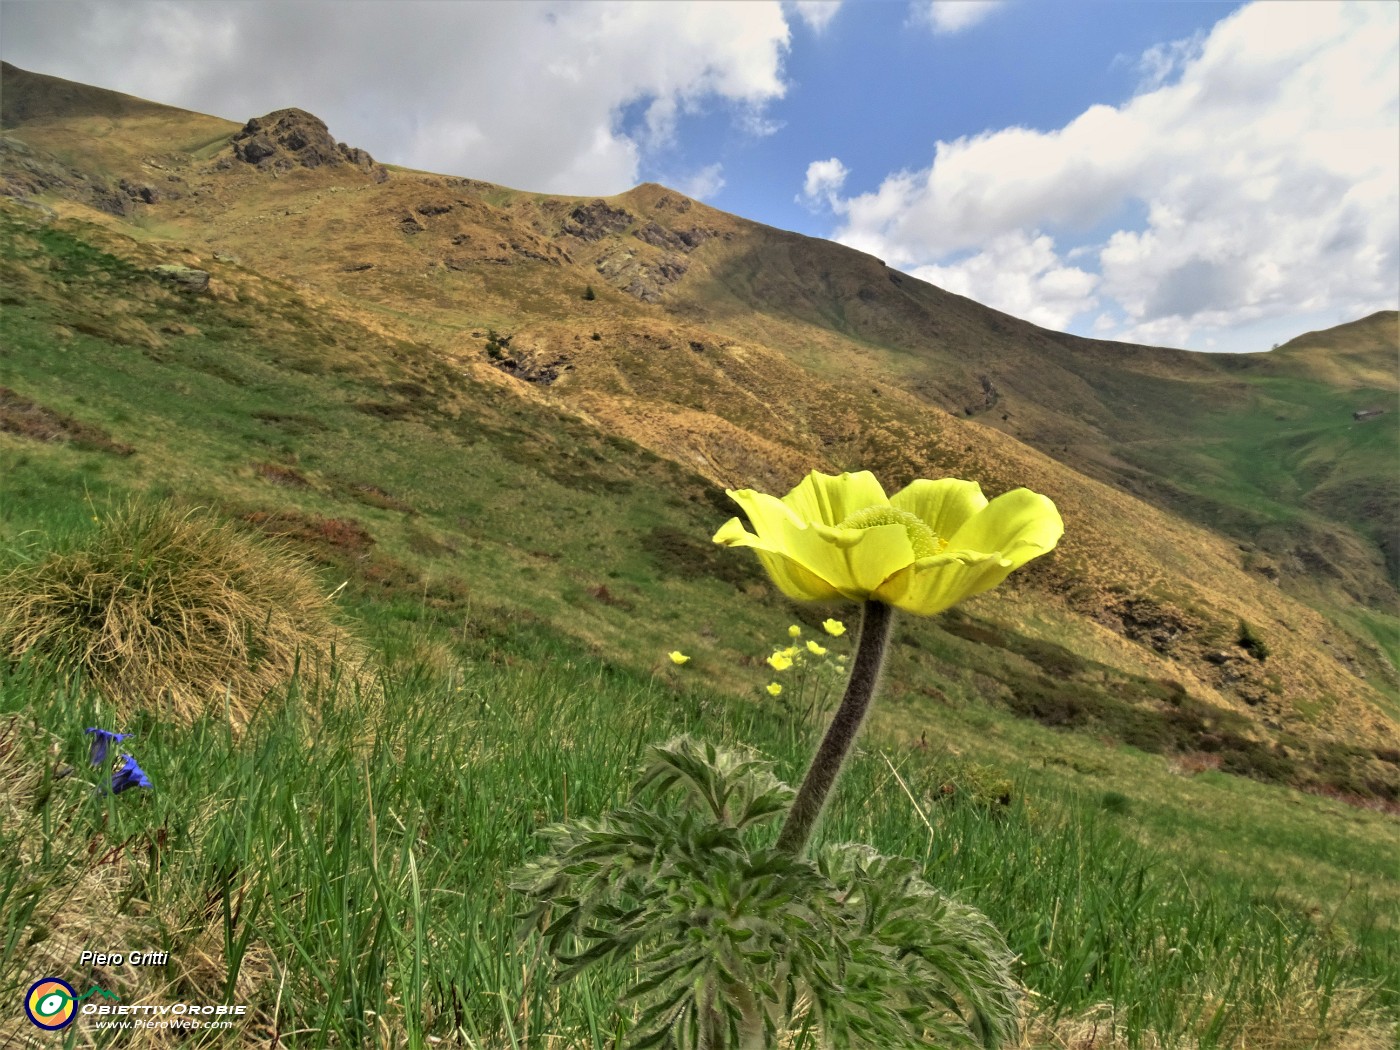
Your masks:
<svg viewBox="0 0 1400 1050"><path fill-rule="evenodd" d="M1149 52L1142 69L1170 84L1092 106L1056 130L939 141L923 171L851 197L830 190L844 220L837 239L986 288L991 274L977 260L1039 244L1032 231L1072 241L1138 210L1145 224L1074 249L1079 266L1096 258L1095 294L1116 305L1123 337L1187 342L1210 330L1226 343L1232 329L1270 318L1394 308L1397 11L1245 7L1200 42ZM1021 241L1005 239L1012 234ZM977 253L948 262L967 251ZM1026 316L1058 316L1077 297L1089 300L1088 290L1044 286L1040 276L1072 267L1040 249L1018 265L1033 265L1023 287L998 284L995 294L1015 302L1035 291L1042 298L1028 301Z"/></svg>

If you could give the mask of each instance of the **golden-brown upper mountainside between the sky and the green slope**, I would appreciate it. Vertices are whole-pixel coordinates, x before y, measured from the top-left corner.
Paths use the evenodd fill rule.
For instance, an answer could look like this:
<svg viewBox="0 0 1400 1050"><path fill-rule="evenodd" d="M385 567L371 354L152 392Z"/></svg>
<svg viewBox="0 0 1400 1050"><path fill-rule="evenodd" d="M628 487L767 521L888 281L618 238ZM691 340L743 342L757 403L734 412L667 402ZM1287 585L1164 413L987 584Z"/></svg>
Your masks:
<svg viewBox="0 0 1400 1050"><path fill-rule="evenodd" d="M1049 494L1061 547L979 615L1247 715L1260 741L1359 749L1354 783L1400 797L1378 637L1400 564L1400 482L1378 466L1394 314L1256 356L1086 340L658 185L543 196L381 167L300 111L245 126L13 66L3 87L4 192L209 273L204 294L286 283L715 486L868 468ZM1387 414L1361 430L1371 407Z"/></svg>

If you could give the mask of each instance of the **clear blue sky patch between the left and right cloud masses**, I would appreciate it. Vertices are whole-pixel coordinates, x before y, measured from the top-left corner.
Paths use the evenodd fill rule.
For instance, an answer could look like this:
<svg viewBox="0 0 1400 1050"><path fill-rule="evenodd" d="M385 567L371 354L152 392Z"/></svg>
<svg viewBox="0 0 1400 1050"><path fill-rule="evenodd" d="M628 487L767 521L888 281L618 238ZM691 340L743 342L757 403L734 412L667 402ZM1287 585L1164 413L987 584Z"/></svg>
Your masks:
<svg viewBox="0 0 1400 1050"><path fill-rule="evenodd" d="M939 139L1061 127L1096 102L1130 98L1144 52L1207 31L1239 6L1026 3L945 34L892 1L846 4L820 31L797 18L788 90L766 109L780 130L755 137L729 106L713 105L687 122L675 150L647 160L643 176L665 181L718 160L724 186L708 203L826 237L830 218L795 199L811 160L840 155L847 189L874 190L892 171L925 167ZM630 106L624 126L636 127L643 108Z"/></svg>

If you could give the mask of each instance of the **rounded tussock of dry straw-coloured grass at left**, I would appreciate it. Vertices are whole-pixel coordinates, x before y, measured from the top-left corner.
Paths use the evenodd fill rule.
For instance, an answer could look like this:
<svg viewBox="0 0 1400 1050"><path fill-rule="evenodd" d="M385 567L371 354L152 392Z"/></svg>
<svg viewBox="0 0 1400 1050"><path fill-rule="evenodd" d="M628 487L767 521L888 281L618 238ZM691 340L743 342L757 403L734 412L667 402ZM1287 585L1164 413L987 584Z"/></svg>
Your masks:
<svg viewBox="0 0 1400 1050"><path fill-rule="evenodd" d="M0 654L80 671L119 713L245 724L294 672L349 655L312 568L203 511L133 504L0 575Z"/></svg>

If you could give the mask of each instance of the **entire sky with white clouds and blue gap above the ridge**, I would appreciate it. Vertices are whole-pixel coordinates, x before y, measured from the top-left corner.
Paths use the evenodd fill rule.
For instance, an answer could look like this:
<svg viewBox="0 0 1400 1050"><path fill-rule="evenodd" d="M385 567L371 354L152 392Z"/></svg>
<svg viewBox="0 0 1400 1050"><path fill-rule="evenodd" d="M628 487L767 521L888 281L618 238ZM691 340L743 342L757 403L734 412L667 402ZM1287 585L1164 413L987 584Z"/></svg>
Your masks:
<svg viewBox="0 0 1400 1050"><path fill-rule="evenodd" d="M1079 335L1400 305L1390 0L0 0L0 55L522 189L664 182Z"/></svg>

